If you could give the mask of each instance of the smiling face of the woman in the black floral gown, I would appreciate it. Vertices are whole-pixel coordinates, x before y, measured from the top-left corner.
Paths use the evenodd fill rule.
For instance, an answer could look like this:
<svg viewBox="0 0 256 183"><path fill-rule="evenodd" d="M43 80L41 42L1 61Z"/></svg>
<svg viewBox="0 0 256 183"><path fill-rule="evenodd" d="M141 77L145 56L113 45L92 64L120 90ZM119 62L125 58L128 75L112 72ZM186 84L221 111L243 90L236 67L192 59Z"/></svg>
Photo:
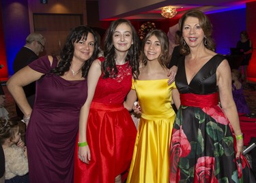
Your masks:
<svg viewBox="0 0 256 183"><path fill-rule="evenodd" d="M188 16L184 21L182 35L189 47L196 47L203 44L204 33L200 27L199 19Z"/></svg>

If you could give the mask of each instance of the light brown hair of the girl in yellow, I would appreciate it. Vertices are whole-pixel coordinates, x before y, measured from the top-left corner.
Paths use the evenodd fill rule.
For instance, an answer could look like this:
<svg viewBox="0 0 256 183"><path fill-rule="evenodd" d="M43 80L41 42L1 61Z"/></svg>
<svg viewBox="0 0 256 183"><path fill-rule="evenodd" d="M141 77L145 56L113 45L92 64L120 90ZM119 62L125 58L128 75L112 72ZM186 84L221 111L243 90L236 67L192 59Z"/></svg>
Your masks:
<svg viewBox="0 0 256 183"><path fill-rule="evenodd" d="M158 62L160 65L162 65L162 67L167 68L167 64L169 62L169 39L164 31L160 29L154 29L147 33L145 39L143 39L142 48L144 49L147 39L152 37L152 35L155 35L161 44L161 53L158 57ZM147 56L145 55L144 50L142 52L142 63L147 65Z"/></svg>

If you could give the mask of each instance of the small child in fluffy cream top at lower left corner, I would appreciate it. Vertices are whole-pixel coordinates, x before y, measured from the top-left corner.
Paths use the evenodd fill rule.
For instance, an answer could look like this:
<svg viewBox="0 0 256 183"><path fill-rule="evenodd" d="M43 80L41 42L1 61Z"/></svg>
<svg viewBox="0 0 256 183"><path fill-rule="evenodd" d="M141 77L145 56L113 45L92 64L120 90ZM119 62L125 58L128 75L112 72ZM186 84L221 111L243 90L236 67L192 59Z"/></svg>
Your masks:
<svg viewBox="0 0 256 183"><path fill-rule="evenodd" d="M20 141L17 121L0 118L0 142L5 154L5 183L28 183L27 148Z"/></svg>

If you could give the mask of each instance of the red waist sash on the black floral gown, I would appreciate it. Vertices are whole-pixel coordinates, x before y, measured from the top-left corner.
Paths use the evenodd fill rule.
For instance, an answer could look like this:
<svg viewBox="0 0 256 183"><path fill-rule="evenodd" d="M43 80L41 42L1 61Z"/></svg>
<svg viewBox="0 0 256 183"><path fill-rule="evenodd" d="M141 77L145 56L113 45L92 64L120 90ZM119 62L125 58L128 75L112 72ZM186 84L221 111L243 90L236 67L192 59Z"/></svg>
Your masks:
<svg viewBox="0 0 256 183"><path fill-rule="evenodd" d="M197 95L193 93L180 94L181 105L193 106L193 107L211 107L218 105L218 93L212 93L209 95Z"/></svg>

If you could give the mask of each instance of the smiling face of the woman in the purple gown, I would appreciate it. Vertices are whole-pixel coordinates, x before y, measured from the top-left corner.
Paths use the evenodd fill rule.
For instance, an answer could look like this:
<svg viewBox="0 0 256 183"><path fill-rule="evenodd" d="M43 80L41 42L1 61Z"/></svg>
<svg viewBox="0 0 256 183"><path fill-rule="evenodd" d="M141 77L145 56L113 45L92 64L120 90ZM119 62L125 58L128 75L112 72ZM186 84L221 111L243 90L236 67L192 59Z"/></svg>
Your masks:
<svg viewBox="0 0 256 183"><path fill-rule="evenodd" d="M88 33L87 39L82 38L77 43L74 43L74 58L80 61L87 61L94 54L94 35Z"/></svg>

